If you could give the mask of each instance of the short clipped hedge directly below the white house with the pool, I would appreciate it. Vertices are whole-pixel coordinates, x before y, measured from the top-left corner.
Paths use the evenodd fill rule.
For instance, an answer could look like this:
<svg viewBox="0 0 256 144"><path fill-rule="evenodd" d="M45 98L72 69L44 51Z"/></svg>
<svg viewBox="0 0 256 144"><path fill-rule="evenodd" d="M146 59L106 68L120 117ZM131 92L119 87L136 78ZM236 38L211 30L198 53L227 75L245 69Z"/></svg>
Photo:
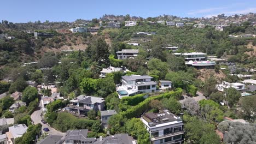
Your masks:
<svg viewBox="0 0 256 144"><path fill-rule="evenodd" d="M124 98L120 99L120 103L124 104L124 105L135 106L135 105L141 103L143 100L145 100L145 98L144 98L145 95L146 94L137 94L132 97L124 97Z"/></svg>

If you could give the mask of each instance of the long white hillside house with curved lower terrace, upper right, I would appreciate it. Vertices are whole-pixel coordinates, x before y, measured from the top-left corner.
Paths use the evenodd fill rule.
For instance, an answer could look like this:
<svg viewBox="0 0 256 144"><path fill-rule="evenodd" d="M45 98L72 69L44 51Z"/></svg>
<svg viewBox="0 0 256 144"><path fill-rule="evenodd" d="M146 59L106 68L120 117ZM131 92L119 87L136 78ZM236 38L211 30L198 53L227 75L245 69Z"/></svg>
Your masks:
<svg viewBox="0 0 256 144"><path fill-rule="evenodd" d="M174 53L175 56L185 58L185 64L196 68L214 67L216 62L207 61L207 54L203 52Z"/></svg>

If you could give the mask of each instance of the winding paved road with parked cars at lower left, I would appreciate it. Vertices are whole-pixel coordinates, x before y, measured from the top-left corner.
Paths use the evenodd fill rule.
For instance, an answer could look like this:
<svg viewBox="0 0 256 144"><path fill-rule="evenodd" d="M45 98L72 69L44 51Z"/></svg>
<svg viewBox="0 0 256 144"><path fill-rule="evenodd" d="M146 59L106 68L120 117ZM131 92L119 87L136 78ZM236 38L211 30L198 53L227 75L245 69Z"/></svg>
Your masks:
<svg viewBox="0 0 256 144"><path fill-rule="evenodd" d="M42 124L42 130L43 128L49 128L50 131L48 131L48 134L50 135L65 135L65 133L61 133L60 131L57 131L54 128L51 128L50 125L44 124L41 122L42 117L40 116L42 113L42 106L39 105L38 109L34 111L31 115L31 119L34 122L34 124L41 123Z"/></svg>

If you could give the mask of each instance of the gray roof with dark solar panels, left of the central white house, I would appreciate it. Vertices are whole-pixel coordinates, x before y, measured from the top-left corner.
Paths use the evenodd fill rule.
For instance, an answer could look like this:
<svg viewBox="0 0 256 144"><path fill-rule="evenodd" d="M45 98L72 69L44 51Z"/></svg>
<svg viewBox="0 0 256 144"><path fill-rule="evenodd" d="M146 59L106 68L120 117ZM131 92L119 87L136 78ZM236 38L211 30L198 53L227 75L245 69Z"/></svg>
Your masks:
<svg viewBox="0 0 256 144"><path fill-rule="evenodd" d="M95 104L95 103L103 103L105 100L104 98L99 97L92 97L92 96L86 96L86 95L79 95L77 98L70 100L74 103L84 103L84 104Z"/></svg>

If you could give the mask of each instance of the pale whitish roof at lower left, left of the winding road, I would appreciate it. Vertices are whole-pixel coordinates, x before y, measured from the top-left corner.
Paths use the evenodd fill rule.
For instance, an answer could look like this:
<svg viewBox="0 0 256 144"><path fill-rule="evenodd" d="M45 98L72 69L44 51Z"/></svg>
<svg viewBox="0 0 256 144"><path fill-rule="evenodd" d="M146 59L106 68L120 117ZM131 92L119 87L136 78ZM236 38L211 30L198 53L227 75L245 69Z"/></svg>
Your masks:
<svg viewBox="0 0 256 144"><path fill-rule="evenodd" d="M9 127L10 133L13 135L14 139L21 137L27 131L27 126L25 124L14 124Z"/></svg>

